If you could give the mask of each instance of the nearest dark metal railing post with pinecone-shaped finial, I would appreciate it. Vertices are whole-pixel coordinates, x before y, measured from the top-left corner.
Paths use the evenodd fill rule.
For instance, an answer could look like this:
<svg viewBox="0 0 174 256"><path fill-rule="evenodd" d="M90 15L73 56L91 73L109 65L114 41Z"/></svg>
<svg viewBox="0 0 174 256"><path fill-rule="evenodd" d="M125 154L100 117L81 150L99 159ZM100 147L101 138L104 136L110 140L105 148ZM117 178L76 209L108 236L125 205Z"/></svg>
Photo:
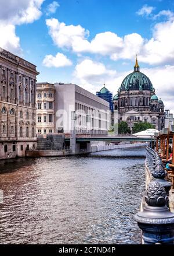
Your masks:
<svg viewBox="0 0 174 256"><path fill-rule="evenodd" d="M169 211L168 196L157 181L148 184L146 206L134 219L142 230L143 244L174 244L174 213Z"/></svg>

